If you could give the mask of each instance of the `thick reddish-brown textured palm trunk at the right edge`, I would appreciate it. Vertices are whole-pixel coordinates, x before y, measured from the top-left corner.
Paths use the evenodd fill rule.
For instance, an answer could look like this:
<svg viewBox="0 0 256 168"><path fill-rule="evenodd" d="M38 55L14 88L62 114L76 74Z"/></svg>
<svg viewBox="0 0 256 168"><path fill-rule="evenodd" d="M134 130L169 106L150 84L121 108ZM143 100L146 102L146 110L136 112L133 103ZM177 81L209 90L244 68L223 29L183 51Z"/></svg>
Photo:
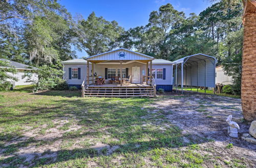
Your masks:
<svg viewBox="0 0 256 168"><path fill-rule="evenodd" d="M244 0L241 98L244 119L256 120L256 1Z"/></svg>

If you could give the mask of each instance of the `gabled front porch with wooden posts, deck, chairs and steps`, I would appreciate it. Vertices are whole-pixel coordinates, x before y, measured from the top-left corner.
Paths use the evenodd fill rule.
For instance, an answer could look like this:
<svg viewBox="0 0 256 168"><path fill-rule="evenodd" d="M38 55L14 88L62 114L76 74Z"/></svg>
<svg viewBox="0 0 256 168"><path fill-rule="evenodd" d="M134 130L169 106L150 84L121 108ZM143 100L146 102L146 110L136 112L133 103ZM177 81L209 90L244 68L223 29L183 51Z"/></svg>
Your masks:
<svg viewBox="0 0 256 168"><path fill-rule="evenodd" d="M82 83L82 95L156 96L156 83L152 76L153 59L124 48L89 57L87 75ZM94 94L96 92L97 95Z"/></svg>

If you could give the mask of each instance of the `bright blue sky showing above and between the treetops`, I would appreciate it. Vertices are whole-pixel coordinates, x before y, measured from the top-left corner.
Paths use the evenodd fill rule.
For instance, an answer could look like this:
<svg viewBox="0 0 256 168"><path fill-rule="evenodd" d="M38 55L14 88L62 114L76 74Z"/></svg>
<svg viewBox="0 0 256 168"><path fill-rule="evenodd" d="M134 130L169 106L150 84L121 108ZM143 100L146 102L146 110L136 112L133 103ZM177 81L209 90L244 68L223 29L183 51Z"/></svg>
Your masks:
<svg viewBox="0 0 256 168"><path fill-rule="evenodd" d="M186 16L189 13L199 14L211 4L207 0L60 0L59 3L76 16L81 14L87 18L90 13L103 16L104 19L116 20L125 30L131 27L145 25L152 11L157 11L161 5L170 3L178 11L183 11ZM78 57L87 56L86 52L77 51Z"/></svg>

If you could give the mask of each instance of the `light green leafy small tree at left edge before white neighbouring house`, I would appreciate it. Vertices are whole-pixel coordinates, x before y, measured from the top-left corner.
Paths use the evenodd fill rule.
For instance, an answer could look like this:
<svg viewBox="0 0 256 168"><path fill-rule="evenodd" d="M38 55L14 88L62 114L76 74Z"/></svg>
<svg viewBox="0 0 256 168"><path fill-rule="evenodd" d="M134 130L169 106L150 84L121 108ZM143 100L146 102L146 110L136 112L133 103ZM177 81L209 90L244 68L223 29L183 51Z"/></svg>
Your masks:
<svg viewBox="0 0 256 168"><path fill-rule="evenodd" d="M0 90L6 90L11 86L11 81L17 81L13 76L16 69L9 65L7 61L0 60Z"/></svg>

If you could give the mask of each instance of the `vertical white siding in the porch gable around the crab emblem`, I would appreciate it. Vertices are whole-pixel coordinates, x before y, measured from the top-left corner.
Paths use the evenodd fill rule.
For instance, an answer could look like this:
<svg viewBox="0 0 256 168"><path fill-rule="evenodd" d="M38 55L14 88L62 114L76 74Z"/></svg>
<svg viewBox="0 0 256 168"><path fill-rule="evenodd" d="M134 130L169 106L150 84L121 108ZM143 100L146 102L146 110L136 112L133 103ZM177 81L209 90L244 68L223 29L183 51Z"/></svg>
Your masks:
<svg viewBox="0 0 256 168"><path fill-rule="evenodd" d="M122 53L124 52L125 57L119 58L119 55L118 55L119 52L122 52ZM144 55L140 55L138 53L120 49L117 51L108 52L102 55L98 55L96 57L92 57L88 60L151 60L151 59L148 57L145 57Z"/></svg>

